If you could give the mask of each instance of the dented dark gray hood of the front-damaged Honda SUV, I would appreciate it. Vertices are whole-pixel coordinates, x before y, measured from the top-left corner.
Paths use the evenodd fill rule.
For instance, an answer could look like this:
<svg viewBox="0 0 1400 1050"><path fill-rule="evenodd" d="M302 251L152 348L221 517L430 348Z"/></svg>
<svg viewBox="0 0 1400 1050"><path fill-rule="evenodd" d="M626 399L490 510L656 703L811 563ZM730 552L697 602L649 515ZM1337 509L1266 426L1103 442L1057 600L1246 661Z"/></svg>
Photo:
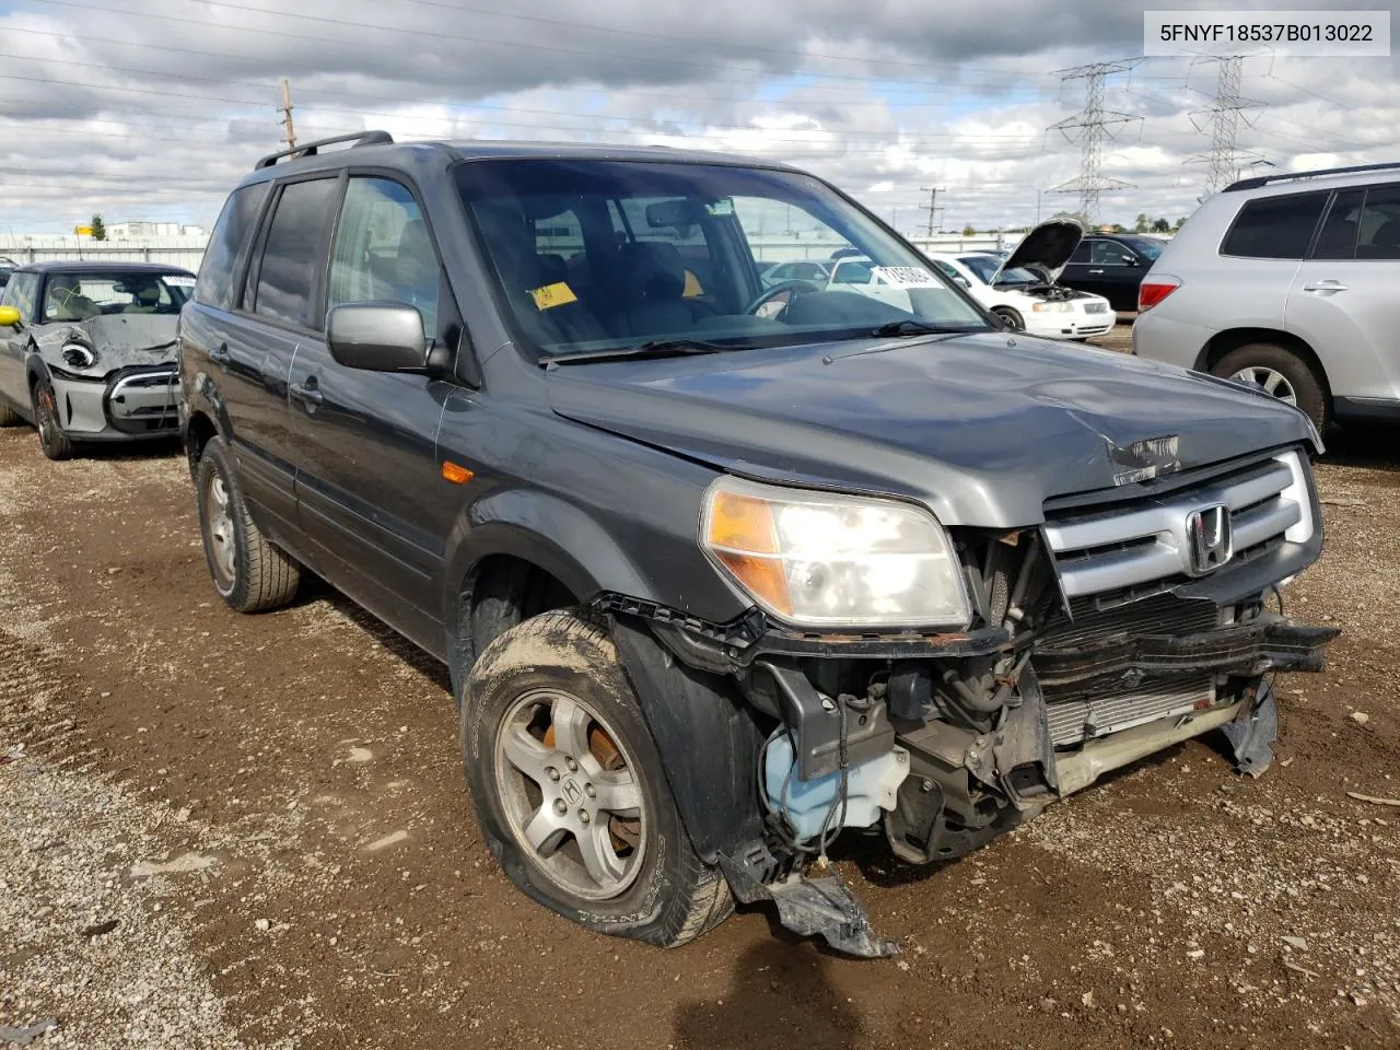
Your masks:
<svg viewBox="0 0 1400 1050"><path fill-rule="evenodd" d="M547 384L561 416L722 470L909 496L987 528L1114 489L1134 442L1177 435L1190 469L1312 434L1236 384L997 333L561 365Z"/></svg>

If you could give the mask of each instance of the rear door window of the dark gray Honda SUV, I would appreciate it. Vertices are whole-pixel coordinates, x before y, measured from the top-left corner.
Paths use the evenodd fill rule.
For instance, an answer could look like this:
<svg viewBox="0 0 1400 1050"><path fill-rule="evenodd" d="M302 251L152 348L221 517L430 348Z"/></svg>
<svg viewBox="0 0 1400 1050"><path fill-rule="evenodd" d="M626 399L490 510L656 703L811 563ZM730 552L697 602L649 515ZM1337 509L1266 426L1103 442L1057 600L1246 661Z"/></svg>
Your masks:
<svg viewBox="0 0 1400 1050"><path fill-rule="evenodd" d="M339 186L337 179L312 179L293 182L283 189L258 267L253 312L293 325L321 328L322 318L314 316L312 295Z"/></svg>

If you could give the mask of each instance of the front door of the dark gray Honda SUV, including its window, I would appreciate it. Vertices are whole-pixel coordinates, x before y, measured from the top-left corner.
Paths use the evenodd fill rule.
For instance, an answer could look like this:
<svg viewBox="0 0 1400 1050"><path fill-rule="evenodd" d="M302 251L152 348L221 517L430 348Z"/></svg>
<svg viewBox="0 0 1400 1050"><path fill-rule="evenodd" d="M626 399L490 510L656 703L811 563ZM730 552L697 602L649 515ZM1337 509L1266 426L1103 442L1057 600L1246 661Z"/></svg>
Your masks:
<svg viewBox="0 0 1400 1050"><path fill-rule="evenodd" d="M351 175L326 277L326 309L403 302L423 318L424 346L461 325L413 192L381 175ZM433 652L442 650L441 574L452 508L435 458L454 386L423 375L337 364L305 342L291 375L298 410L298 518L325 556L323 574ZM311 395L311 396L308 396Z"/></svg>

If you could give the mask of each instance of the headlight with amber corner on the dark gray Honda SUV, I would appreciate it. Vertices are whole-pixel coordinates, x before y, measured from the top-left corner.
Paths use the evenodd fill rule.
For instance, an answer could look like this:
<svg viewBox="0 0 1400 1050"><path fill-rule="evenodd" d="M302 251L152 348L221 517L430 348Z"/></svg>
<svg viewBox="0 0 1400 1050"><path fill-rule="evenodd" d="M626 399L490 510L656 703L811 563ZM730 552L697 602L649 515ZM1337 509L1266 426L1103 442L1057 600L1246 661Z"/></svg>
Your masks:
<svg viewBox="0 0 1400 1050"><path fill-rule="evenodd" d="M972 619L948 533L909 504L721 477L700 545L791 623L960 630Z"/></svg>

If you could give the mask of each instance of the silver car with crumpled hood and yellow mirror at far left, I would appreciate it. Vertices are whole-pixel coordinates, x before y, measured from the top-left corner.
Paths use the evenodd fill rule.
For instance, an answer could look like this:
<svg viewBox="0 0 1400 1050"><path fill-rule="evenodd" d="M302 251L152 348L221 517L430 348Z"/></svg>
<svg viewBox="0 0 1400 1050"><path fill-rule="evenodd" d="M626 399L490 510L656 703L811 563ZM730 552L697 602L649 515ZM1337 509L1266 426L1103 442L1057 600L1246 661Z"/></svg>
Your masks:
<svg viewBox="0 0 1400 1050"><path fill-rule="evenodd" d="M195 274L150 263L36 263L0 295L0 426L49 459L179 430L175 336Z"/></svg>

